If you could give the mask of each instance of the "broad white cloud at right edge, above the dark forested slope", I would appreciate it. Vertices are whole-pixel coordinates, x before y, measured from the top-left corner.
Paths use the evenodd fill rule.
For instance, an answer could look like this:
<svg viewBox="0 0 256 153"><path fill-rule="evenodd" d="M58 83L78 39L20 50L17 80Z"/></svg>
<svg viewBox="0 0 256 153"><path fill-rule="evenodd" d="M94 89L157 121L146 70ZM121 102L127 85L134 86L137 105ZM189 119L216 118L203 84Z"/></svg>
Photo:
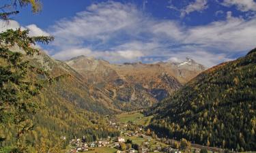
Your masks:
<svg viewBox="0 0 256 153"><path fill-rule="evenodd" d="M223 52L240 52L255 48L256 18L244 20L234 18L227 12L227 20L193 27L186 31L184 43L196 43Z"/></svg>

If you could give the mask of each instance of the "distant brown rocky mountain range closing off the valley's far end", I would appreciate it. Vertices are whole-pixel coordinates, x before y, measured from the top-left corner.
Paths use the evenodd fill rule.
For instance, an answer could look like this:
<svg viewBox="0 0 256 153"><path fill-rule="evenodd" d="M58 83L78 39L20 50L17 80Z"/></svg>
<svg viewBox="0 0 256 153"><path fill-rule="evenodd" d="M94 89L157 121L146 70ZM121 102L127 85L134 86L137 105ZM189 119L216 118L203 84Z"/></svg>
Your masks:
<svg viewBox="0 0 256 153"><path fill-rule="evenodd" d="M183 63L124 63L87 56L66 61L83 76L83 82L96 86L108 95L117 109L132 110L149 107L194 78L205 69L187 58ZM94 95L94 90L91 90Z"/></svg>

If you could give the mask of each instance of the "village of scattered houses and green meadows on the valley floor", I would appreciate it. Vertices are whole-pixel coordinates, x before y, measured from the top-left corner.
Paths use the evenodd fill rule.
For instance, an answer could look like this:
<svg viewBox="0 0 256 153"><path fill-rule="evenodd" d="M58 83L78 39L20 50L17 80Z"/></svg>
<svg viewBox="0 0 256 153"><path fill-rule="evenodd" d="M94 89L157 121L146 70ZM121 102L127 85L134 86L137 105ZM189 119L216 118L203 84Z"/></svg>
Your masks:
<svg viewBox="0 0 256 153"><path fill-rule="evenodd" d="M109 121L109 126L120 131L119 137L107 137L91 142L87 142L85 136L72 139L68 153L182 153L187 148L194 153L218 152L218 150L191 147L186 139L179 142L174 139L158 138L154 131L145 128L147 120L149 118L142 118L141 114L135 113L130 114L130 118L120 118L117 122Z"/></svg>

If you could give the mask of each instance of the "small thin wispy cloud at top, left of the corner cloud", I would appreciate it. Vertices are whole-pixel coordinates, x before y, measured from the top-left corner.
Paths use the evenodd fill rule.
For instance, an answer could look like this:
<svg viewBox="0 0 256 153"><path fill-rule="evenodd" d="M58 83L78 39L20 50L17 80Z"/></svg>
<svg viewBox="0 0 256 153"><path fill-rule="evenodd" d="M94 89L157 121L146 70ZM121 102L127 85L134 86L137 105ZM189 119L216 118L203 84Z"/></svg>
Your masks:
<svg viewBox="0 0 256 153"><path fill-rule="evenodd" d="M190 3L181 11L181 17L186 16L192 12L202 12L208 8L208 0L195 0L195 2Z"/></svg>

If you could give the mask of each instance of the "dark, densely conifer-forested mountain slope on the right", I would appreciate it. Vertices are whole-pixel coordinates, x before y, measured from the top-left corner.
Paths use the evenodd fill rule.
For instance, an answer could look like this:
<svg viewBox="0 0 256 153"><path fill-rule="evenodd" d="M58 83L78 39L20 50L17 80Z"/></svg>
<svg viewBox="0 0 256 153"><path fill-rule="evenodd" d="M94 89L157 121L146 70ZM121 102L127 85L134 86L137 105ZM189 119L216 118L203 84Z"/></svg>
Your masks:
<svg viewBox="0 0 256 153"><path fill-rule="evenodd" d="M147 114L161 136L256 150L256 49L203 71Z"/></svg>

